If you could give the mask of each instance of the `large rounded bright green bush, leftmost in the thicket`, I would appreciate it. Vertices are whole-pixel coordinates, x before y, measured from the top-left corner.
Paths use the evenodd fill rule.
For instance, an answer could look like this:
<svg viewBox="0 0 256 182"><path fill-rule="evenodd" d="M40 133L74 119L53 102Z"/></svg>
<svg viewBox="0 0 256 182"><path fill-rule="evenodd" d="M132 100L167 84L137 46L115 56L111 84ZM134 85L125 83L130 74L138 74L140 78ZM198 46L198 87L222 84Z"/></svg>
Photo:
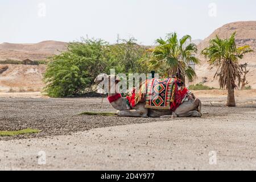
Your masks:
<svg viewBox="0 0 256 182"><path fill-rule="evenodd" d="M53 56L48 63L44 91L50 97L70 97L83 94L94 78L105 71L108 44L102 40L69 43L68 51Z"/></svg>

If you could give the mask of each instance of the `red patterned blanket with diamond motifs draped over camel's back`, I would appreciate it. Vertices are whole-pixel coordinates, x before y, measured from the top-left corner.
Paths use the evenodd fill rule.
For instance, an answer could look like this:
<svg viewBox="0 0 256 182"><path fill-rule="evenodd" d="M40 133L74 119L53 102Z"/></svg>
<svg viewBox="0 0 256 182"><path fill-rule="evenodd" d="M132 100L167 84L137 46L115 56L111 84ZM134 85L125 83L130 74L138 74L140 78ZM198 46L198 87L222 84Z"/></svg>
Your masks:
<svg viewBox="0 0 256 182"><path fill-rule="evenodd" d="M134 89L127 100L131 107L138 102L145 102L145 108L168 109L175 111L182 104L188 93L187 88L180 88L177 78L163 78L147 80L136 90Z"/></svg>

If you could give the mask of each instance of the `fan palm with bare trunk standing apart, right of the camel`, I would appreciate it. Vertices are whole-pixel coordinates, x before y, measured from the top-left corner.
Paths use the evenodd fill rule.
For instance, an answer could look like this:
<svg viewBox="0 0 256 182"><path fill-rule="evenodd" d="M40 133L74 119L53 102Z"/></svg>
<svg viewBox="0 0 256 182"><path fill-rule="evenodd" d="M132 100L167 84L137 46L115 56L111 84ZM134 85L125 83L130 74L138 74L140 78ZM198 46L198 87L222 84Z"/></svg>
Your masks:
<svg viewBox="0 0 256 182"><path fill-rule="evenodd" d="M236 46L236 32L230 38L220 39L218 36L210 40L209 47L201 52L208 60L209 64L217 67L214 78L218 77L220 88L228 90L228 100L226 106L235 107L234 89L241 82L241 67L238 61L243 58L245 53L253 51L250 46Z"/></svg>

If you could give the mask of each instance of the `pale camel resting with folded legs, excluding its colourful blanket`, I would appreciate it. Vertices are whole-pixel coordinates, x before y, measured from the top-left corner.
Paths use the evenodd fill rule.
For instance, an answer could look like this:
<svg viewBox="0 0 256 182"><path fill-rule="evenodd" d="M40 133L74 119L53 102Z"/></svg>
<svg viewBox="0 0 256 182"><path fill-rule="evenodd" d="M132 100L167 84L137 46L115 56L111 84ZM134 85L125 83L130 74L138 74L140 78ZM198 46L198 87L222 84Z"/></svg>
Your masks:
<svg viewBox="0 0 256 182"><path fill-rule="evenodd" d="M109 97L118 96L119 90L117 83L119 81L120 79L117 76L109 76L105 73L97 76L94 80L96 84L106 84L109 85L108 90L114 90L113 93L108 93ZM114 109L118 110L117 115L119 117L201 117L201 101L196 98L193 93L187 94L186 97L187 99L175 111L147 109L145 108L144 102L139 102L135 107L131 109L127 104L127 98L125 97L117 97L110 104L114 107Z"/></svg>

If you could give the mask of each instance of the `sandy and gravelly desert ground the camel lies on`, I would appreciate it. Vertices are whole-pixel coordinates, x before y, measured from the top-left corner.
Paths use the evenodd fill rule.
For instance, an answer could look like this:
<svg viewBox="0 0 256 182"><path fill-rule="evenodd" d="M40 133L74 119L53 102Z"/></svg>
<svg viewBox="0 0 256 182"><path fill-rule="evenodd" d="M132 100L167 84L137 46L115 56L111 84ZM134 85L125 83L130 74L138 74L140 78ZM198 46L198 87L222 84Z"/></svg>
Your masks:
<svg viewBox="0 0 256 182"><path fill-rule="evenodd" d="M106 99L101 107L101 98L1 93L1 131L41 132L0 137L0 169L256 170L256 90L237 91L233 108L225 107L225 90L195 94L202 118L167 119L79 115L115 112ZM212 152L216 164L209 163Z"/></svg>

